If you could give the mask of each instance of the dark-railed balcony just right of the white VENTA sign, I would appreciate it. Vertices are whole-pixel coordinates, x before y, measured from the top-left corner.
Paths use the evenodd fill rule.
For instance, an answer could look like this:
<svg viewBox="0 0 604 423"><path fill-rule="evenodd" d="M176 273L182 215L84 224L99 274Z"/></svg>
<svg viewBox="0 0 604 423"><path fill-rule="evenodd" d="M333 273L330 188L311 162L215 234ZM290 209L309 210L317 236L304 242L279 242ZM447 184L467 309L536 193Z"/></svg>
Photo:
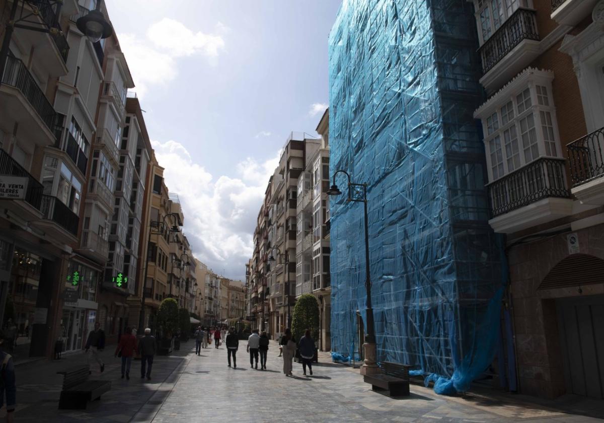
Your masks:
<svg viewBox="0 0 604 423"><path fill-rule="evenodd" d="M71 208L63 204L60 199L42 195L42 221L37 221L36 226L42 228L50 237L59 242L70 244L76 241L79 218Z"/></svg>

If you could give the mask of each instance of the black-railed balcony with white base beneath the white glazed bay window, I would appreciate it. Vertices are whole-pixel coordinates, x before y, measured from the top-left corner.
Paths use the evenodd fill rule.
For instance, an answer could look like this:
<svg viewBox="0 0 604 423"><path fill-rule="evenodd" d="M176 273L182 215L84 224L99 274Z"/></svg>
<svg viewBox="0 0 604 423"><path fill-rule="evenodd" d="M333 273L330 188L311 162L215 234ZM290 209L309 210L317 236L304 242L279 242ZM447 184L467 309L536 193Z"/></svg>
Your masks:
<svg viewBox="0 0 604 423"><path fill-rule="evenodd" d="M513 233L568 216L565 160L540 158L488 185L495 232Z"/></svg>

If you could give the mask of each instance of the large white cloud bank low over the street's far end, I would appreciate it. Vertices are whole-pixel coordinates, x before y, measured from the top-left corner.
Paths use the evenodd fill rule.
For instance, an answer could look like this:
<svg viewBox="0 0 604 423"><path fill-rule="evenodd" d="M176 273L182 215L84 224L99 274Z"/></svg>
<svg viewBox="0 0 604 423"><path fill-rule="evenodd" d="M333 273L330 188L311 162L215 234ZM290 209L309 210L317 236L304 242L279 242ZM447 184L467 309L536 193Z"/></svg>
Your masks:
<svg viewBox="0 0 604 423"><path fill-rule="evenodd" d="M252 255L256 217L266 184L277 167L280 152L259 162L253 158L237 164L237 177L214 178L194 163L176 141L153 141L165 183L178 193L185 216L184 233L195 256L214 271L242 279Z"/></svg>

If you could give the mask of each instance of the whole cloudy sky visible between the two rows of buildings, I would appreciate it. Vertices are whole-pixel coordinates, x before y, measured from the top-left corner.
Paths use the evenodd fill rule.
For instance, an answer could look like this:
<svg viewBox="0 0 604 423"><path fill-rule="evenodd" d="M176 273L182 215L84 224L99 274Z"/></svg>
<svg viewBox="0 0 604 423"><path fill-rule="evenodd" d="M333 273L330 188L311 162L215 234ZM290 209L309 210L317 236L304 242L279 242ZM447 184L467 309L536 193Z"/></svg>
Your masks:
<svg viewBox="0 0 604 423"><path fill-rule="evenodd" d="M341 0L105 0L193 254L245 280L268 178L329 102Z"/></svg>

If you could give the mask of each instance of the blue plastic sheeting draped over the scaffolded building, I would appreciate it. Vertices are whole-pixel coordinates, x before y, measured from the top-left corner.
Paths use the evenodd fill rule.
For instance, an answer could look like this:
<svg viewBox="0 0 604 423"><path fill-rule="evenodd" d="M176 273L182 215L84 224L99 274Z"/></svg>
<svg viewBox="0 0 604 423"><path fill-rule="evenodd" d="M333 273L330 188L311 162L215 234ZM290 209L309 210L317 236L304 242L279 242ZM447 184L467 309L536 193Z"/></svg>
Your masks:
<svg viewBox="0 0 604 423"><path fill-rule="evenodd" d="M411 364L445 394L491 363L504 286L472 117L475 37L466 0L344 0L329 37L330 175L368 184L378 361ZM330 199L332 350L344 357L361 342L356 313L366 321L362 207Z"/></svg>

